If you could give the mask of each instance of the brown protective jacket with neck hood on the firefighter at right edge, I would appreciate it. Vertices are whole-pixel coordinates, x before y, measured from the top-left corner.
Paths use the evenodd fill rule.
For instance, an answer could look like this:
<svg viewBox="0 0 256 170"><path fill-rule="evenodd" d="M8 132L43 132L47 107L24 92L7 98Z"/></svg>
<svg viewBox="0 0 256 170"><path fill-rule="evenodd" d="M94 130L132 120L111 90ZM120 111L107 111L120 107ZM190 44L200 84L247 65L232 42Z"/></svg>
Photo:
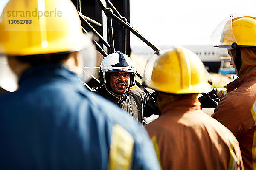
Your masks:
<svg viewBox="0 0 256 170"><path fill-rule="evenodd" d="M256 169L256 54L241 48L239 79L227 85L227 95L215 108L213 118L226 126L239 142L245 170Z"/></svg>

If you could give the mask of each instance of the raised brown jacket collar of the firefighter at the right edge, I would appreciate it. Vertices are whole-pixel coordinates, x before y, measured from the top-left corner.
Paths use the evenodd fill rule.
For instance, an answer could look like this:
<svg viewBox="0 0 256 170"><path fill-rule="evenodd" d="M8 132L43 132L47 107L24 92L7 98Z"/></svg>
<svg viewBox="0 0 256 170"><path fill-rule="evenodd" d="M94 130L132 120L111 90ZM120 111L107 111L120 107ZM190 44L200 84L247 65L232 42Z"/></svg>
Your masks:
<svg viewBox="0 0 256 170"><path fill-rule="evenodd" d="M256 78L255 76L256 76L256 69L249 71L243 77L239 77L234 81L230 82L229 84L227 84L227 92L230 92L235 90L236 88L239 88L239 86L241 86L244 81L250 81L250 79L255 81L255 78Z"/></svg>

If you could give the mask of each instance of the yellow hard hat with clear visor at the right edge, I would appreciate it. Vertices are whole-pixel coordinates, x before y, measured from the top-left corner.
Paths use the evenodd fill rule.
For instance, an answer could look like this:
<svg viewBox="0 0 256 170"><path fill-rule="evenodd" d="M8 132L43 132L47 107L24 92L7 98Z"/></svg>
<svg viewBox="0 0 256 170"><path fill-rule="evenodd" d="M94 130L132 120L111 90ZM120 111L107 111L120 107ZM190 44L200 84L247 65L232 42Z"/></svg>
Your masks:
<svg viewBox="0 0 256 170"><path fill-rule="evenodd" d="M216 47L255 47L256 18L251 16L229 17L222 21L212 33Z"/></svg>

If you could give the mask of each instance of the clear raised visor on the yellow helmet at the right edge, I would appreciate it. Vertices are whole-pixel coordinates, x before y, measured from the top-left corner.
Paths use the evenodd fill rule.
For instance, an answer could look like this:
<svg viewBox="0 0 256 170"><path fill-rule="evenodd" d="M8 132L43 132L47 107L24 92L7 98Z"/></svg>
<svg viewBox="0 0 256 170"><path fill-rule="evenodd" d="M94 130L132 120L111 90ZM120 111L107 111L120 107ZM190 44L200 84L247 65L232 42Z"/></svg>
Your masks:
<svg viewBox="0 0 256 170"><path fill-rule="evenodd" d="M237 40L232 29L232 19L233 16L226 18L219 23L213 31L210 39L216 47L232 49L231 45L233 43L237 44Z"/></svg>

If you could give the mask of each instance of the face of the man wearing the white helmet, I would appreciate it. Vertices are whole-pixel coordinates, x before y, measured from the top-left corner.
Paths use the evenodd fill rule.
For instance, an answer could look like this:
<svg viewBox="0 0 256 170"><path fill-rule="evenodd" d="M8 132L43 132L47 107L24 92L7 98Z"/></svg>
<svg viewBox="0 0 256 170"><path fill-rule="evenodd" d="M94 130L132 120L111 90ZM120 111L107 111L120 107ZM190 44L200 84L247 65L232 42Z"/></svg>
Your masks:
<svg viewBox="0 0 256 170"><path fill-rule="evenodd" d="M130 73L112 72L109 77L110 87L115 94L124 94L130 85Z"/></svg>

